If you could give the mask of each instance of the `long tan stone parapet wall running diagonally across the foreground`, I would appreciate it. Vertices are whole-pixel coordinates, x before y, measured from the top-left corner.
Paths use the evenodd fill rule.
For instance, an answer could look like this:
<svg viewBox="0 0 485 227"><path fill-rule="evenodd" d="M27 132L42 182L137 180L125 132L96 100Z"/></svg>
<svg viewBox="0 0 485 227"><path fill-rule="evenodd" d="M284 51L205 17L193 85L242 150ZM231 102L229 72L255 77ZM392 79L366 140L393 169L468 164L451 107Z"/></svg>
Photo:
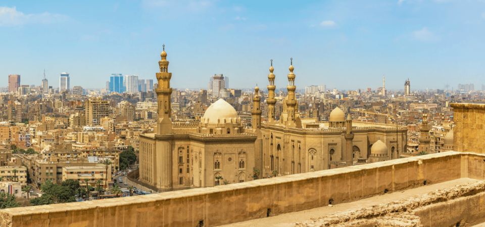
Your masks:
<svg viewBox="0 0 485 227"><path fill-rule="evenodd" d="M213 188L3 209L0 226L214 226L356 201L425 182L482 179L485 156L476 156L444 152Z"/></svg>

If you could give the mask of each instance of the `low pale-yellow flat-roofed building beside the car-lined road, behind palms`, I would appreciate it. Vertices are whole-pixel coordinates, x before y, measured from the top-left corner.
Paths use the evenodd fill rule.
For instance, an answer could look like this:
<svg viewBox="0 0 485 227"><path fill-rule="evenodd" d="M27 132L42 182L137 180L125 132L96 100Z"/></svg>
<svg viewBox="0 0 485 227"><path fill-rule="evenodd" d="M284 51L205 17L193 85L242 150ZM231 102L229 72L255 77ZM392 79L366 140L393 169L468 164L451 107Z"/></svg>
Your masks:
<svg viewBox="0 0 485 227"><path fill-rule="evenodd" d="M85 179L89 179L87 185L96 187L96 181L102 180L101 187L107 189L108 187L105 185L106 177L108 177L107 184L109 186L113 184L112 176L111 167L108 167L108 172L106 172L104 166L64 166L62 168L62 181L79 181L81 188L86 188Z"/></svg>

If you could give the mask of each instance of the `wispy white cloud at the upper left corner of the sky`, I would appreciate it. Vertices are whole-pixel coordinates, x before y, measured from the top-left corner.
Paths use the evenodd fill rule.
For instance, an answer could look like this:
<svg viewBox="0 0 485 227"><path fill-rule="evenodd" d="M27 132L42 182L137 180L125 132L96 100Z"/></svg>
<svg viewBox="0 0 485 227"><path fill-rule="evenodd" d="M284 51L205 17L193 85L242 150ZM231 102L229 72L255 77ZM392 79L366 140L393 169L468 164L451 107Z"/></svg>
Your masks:
<svg viewBox="0 0 485 227"><path fill-rule="evenodd" d="M16 7L0 7L0 26L19 26L24 24L47 24L69 20L66 15L42 13L28 14L17 11Z"/></svg>

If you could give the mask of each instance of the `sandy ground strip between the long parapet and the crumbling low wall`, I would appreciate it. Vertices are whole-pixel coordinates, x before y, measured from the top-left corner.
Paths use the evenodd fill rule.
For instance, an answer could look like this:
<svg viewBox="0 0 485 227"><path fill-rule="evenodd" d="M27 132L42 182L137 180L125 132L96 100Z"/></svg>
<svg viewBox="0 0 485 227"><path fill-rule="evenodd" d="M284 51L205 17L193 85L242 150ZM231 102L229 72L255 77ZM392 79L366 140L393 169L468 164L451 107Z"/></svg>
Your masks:
<svg viewBox="0 0 485 227"><path fill-rule="evenodd" d="M440 184L434 185L426 185L419 188L408 189L405 191L397 191L394 193L383 194L378 196L373 196L370 198L362 199L355 202L350 203L342 203L336 204L332 207L324 206L318 207L310 210L303 210L298 212L292 213L285 213L277 216L272 217L265 217L259 218L254 220L242 221L237 223L231 223L226 225L220 225L221 227L229 227L229 226L251 226L251 227L289 227L295 226L297 222L303 222L310 220L311 218L320 217L325 214L330 214L334 212L340 212L345 210L356 210L362 207L369 207L372 205L378 205L381 203L392 202L401 199L407 199L414 197L416 195L423 195L429 192L436 191L437 189L449 188L456 185L466 184L466 183L473 183L477 182L478 180L469 179L469 178L461 178L453 181L448 181ZM476 227L485 227L485 224L482 225L475 225Z"/></svg>

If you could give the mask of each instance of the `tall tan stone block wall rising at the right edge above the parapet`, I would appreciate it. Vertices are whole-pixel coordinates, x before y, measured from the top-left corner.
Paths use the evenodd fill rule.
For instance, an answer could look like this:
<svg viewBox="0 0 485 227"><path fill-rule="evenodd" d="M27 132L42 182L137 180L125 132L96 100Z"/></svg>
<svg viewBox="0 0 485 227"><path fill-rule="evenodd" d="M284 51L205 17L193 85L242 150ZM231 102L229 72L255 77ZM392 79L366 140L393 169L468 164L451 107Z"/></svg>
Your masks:
<svg viewBox="0 0 485 227"><path fill-rule="evenodd" d="M451 103L454 109L453 148L485 154L485 104Z"/></svg>

